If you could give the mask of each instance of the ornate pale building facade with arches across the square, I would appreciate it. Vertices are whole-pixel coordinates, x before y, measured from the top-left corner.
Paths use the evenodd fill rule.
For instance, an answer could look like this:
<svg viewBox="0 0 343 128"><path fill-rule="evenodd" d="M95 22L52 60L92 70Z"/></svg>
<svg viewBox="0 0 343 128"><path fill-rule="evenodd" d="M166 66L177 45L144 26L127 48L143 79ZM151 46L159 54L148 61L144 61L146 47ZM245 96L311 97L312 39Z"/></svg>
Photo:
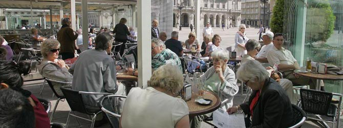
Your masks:
<svg viewBox="0 0 343 128"><path fill-rule="evenodd" d="M173 26L189 27L195 22L196 0L173 0ZM184 2L181 9L180 3ZM241 24L241 0L202 0L200 7L201 27L237 27Z"/></svg>

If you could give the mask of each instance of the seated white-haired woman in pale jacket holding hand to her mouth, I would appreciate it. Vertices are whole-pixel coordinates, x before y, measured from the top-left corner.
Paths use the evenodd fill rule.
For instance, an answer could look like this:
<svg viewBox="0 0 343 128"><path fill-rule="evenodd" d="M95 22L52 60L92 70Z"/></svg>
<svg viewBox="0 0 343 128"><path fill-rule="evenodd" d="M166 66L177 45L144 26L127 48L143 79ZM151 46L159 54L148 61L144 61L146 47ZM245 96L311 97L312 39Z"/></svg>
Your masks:
<svg viewBox="0 0 343 128"><path fill-rule="evenodd" d="M226 65L229 60L229 52L226 50L217 50L211 56L213 58L213 66L201 78L205 79L205 90L217 94L221 101L229 99L222 106L222 109L226 110L232 106L233 97L238 92L239 87L236 84L233 71ZM195 117L191 122L192 127L200 127L201 121L206 117L210 117L211 114Z"/></svg>

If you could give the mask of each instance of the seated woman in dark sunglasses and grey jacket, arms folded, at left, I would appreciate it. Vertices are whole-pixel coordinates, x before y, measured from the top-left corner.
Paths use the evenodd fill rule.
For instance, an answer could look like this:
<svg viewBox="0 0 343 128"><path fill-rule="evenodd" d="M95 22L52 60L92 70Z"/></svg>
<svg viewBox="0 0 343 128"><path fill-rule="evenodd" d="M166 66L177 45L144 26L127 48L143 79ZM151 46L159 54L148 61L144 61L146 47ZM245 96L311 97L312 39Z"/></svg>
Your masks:
<svg viewBox="0 0 343 128"><path fill-rule="evenodd" d="M68 72L69 67L65 61L58 58L59 42L56 39L44 40L40 45L40 53L44 59L38 63L37 68L39 73L46 78L71 82L73 75ZM59 89L66 84L52 82L56 93L63 96L62 91ZM69 85L70 86L70 85Z"/></svg>

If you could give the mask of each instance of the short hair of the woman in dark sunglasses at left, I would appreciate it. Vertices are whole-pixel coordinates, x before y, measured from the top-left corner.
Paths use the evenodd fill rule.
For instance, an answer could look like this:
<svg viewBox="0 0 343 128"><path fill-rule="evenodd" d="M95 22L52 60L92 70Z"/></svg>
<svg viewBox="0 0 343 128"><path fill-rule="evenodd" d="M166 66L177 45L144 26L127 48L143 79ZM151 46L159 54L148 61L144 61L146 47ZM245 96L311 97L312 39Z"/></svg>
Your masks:
<svg viewBox="0 0 343 128"><path fill-rule="evenodd" d="M57 39L46 39L40 45L40 53L44 58L48 57L50 50L54 47L59 48L60 44Z"/></svg>

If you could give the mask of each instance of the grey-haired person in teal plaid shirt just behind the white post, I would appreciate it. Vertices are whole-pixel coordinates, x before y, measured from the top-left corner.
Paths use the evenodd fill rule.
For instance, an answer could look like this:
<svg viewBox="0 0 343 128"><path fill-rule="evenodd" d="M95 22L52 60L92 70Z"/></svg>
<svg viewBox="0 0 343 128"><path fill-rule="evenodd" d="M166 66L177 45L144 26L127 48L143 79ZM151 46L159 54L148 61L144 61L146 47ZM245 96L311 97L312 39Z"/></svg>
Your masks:
<svg viewBox="0 0 343 128"><path fill-rule="evenodd" d="M181 60L173 51L165 48L162 40L158 38L153 38L151 40L151 47L152 47L152 69L155 71L159 67L171 63L171 65L179 67L180 71L181 68ZM127 70L128 75L135 75L138 76L138 71L134 71L133 69Z"/></svg>

